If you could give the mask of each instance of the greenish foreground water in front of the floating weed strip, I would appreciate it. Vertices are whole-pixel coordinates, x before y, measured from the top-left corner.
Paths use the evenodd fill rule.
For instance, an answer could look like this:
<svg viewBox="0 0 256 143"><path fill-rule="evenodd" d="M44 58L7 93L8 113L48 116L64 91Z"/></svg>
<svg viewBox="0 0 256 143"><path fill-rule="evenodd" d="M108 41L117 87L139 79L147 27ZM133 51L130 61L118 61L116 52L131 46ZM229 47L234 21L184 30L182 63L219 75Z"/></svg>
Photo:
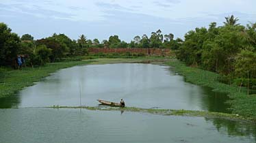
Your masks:
<svg viewBox="0 0 256 143"><path fill-rule="evenodd" d="M255 141L253 132L240 134L249 125L234 122L235 129L227 131L225 127L216 128L212 119L201 117L45 108L0 110L0 115L0 142ZM218 125L224 126L226 121L220 120Z"/></svg>

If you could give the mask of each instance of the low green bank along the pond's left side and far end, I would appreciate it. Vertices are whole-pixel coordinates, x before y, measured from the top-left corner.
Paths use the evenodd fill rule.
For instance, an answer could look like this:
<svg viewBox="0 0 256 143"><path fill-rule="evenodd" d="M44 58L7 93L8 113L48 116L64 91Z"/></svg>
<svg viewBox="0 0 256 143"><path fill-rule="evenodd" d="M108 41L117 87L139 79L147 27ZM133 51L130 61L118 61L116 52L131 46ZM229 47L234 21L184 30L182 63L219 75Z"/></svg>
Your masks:
<svg viewBox="0 0 256 143"><path fill-rule="evenodd" d="M58 69L73 67L75 65L107 64L107 63L148 63L152 61L163 61L162 57L140 57L136 59L88 59L88 57L78 57L67 59L67 61L57 63L47 63L42 67L23 67L20 70L12 68L0 68L0 98L14 95L26 86L31 86L42 78L49 76Z"/></svg>

